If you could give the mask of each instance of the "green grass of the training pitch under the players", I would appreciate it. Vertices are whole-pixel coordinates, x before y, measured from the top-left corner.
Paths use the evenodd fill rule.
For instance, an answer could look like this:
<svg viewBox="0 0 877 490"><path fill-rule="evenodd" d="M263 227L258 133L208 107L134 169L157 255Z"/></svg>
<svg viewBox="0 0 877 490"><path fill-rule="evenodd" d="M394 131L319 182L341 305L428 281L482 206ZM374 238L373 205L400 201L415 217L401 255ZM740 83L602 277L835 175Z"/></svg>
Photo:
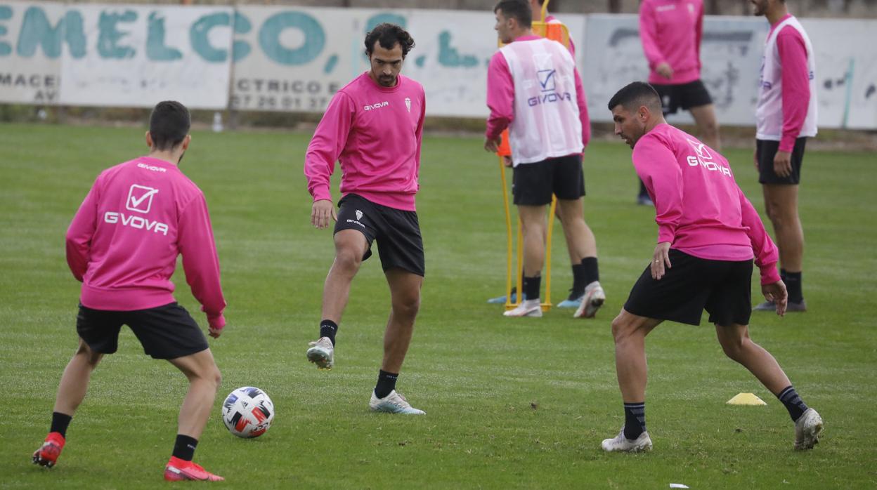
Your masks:
<svg viewBox="0 0 877 490"><path fill-rule="evenodd" d="M104 167L145 153L143 128L0 124L0 487L152 487L175 435L183 376L143 355L124 330L96 370L56 468L30 464L45 436L61 371L76 344L79 284L64 232ZM367 411L389 293L378 259L353 283L337 365L304 359L316 337L329 231L309 225L302 174L310 135L196 132L182 168L210 204L229 326L211 340L224 374L196 460L252 487L826 488L877 485L877 167L873 154L809 151L801 214L810 311L752 316L824 416L815 451L792 451L792 424L774 396L724 358L712 326L661 325L649 337L648 426L655 450L604 454L623 423L610 320L651 258L651 209L633 205L630 150L595 142L586 155L586 217L609 299L595 320L554 309L505 319L485 300L502 292L505 230L496 161L481 138L426 138L418 213L426 248L423 306L399 387L425 417ZM729 150L738 181L763 209L751 150ZM336 179L337 181L337 179ZM337 195L337 183L333 184ZM553 299L571 283L560 229ZM182 270L182 267L178 268ZM196 319L182 272L176 297ZM753 281L753 295L757 283ZM218 417L233 388L271 395L275 424L255 440ZM725 405L752 392L762 408Z"/></svg>

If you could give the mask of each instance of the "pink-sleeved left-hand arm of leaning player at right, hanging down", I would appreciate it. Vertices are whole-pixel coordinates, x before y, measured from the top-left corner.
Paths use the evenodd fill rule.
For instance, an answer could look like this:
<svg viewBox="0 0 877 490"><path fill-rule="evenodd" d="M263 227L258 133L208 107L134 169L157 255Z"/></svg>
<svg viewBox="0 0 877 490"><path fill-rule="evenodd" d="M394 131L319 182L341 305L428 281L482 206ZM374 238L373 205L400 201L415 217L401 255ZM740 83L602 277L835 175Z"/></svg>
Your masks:
<svg viewBox="0 0 877 490"><path fill-rule="evenodd" d="M652 278L663 277L670 263L669 250L682 218L682 171L676 156L658 138L640 138L633 149L633 166L637 169L655 203L658 245L652 256Z"/></svg>

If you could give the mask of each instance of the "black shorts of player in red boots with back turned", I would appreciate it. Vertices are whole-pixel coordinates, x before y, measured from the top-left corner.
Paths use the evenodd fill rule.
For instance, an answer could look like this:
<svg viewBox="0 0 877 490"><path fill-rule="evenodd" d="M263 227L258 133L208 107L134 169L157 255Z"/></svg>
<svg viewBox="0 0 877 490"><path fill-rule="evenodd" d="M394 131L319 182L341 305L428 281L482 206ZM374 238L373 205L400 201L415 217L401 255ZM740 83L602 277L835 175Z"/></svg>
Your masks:
<svg viewBox="0 0 877 490"><path fill-rule="evenodd" d="M154 359L176 359L207 349L207 338L185 308L172 302L133 311L90 309L79 305L76 332L94 352L118 350L118 332L128 325Z"/></svg>

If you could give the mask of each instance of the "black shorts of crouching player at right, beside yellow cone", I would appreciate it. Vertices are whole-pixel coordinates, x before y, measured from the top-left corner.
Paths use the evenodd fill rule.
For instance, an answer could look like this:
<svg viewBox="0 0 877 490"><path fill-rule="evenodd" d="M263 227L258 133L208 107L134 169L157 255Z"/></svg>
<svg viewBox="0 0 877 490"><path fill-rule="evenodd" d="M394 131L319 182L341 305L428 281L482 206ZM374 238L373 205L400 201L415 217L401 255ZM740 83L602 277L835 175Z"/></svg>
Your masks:
<svg viewBox="0 0 877 490"><path fill-rule="evenodd" d="M699 325L703 309L709 323L748 325L752 314L752 259L698 259L670 249L671 268L655 281L651 267L631 289L624 303L628 312L672 322Z"/></svg>

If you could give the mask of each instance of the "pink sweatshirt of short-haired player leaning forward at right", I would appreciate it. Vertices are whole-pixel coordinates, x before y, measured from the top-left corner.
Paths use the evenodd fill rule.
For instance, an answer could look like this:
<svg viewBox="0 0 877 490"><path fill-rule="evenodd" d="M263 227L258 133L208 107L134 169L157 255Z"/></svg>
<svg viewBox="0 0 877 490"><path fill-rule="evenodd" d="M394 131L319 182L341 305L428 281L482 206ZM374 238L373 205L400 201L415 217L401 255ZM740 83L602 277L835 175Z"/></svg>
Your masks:
<svg viewBox="0 0 877 490"><path fill-rule="evenodd" d="M655 203L659 243L710 260L752 259L754 252L761 284L780 281L776 245L722 155L659 124L637 141L633 167Z"/></svg>

